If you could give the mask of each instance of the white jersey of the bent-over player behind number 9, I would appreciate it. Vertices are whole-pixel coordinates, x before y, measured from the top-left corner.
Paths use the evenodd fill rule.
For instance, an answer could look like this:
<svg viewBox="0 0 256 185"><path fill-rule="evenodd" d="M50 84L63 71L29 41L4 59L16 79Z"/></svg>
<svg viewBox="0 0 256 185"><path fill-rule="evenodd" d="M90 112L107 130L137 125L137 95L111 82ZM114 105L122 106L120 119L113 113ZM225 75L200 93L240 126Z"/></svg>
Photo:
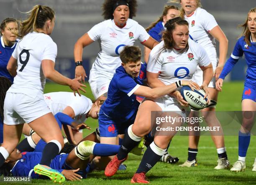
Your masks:
<svg viewBox="0 0 256 185"><path fill-rule="evenodd" d="M73 92L50 92L44 94L44 100L49 109L55 115L69 106L74 110L74 120L82 123L87 119L87 113L92 108L92 100L84 95L74 96Z"/></svg>

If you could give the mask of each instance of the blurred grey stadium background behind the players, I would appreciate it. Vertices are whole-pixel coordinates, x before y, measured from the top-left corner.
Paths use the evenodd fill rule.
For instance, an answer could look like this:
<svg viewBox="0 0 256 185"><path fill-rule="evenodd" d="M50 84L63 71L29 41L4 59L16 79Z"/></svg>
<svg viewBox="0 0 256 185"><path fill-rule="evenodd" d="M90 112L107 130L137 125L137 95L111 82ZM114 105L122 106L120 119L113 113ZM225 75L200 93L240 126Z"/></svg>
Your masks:
<svg viewBox="0 0 256 185"><path fill-rule="evenodd" d="M100 23L101 5L104 0L0 0L0 20L6 17L24 18L24 14L36 4L48 5L56 11L56 25L51 37L58 46L56 69L68 77L74 77L74 43L92 26ZM168 0L137 0L138 11L134 20L144 28L157 20ZM228 57L230 56L236 39L241 34L237 28L242 24L255 0L201 0L203 8L217 20L220 28L229 40ZM170 4L170 3L169 3ZM178 5L178 4L174 4ZM178 5L179 6L179 5ZM142 46L136 42L135 45ZM141 49L143 49L141 47ZM90 66L95 60L99 45L94 42L84 50L83 61L89 77ZM245 61L240 60L235 69L227 77L229 80L243 80L246 71Z"/></svg>

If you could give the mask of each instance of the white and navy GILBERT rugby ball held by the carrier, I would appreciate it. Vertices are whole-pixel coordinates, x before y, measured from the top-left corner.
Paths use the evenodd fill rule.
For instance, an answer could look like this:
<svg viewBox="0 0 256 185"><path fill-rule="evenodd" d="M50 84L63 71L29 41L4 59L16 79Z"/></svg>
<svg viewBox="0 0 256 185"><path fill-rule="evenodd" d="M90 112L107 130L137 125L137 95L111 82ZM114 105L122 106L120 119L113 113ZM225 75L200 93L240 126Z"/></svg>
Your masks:
<svg viewBox="0 0 256 185"><path fill-rule="evenodd" d="M207 97L204 99L204 90L192 90L189 86L183 86L180 90L180 93L184 100L189 103L191 109L200 110L207 107Z"/></svg>

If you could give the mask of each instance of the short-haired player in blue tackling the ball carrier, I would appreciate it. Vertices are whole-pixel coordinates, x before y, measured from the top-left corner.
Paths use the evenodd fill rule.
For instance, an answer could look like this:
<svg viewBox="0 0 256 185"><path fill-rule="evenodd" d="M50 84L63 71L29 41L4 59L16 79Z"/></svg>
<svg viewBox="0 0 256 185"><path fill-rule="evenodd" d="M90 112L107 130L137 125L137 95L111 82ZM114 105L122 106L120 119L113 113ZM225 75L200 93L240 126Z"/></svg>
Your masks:
<svg viewBox="0 0 256 185"><path fill-rule="evenodd" d="M100 143L112 145L116 144L117 135L124 134L135 120L139 107L136 95L155 99L168 95L181 84L199 87L189 80L177 80L176 83L173 82L170 85L154 89L139 85L138 75L141 69L140 48L125 46L120 53L120 59L122 65L117 68L110 82L108 97L100 108L99 113ZM101 159L99 163L107 165L111 158L113 157Z"/></svg>

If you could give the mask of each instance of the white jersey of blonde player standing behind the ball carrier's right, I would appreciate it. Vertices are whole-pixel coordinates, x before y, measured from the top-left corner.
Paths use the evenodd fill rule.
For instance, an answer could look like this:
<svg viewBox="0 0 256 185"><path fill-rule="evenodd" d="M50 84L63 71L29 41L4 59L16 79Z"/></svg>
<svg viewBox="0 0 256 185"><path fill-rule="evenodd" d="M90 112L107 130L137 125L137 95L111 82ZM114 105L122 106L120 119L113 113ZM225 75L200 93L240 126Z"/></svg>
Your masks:
<svg viewBox="0 0 256 185"><path fill-rule="evenodd" d="M212 28L218 26L215 18L198 7L191 16L184 15L184 19L189 23L190 38L204 47L210 60L217 62L215 38L209 33Z"/></svg>

